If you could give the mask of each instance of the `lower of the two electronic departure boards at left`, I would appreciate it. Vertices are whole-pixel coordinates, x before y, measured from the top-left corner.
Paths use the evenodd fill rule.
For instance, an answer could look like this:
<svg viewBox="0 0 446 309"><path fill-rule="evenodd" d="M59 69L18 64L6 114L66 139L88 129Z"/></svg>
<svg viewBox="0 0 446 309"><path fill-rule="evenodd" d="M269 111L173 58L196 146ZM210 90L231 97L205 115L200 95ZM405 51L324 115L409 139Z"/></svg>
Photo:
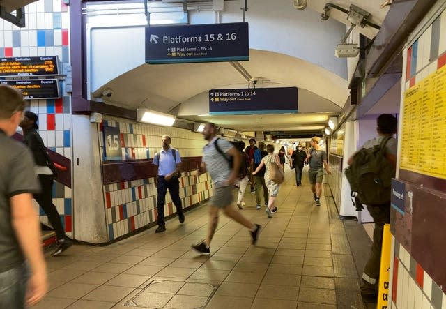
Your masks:
<svg viewBox="0 0 446 309"><path fill-rule="evenodd" d="M26 100L60 98L57 80L0 80L0 84L19 89Z"/></svg>

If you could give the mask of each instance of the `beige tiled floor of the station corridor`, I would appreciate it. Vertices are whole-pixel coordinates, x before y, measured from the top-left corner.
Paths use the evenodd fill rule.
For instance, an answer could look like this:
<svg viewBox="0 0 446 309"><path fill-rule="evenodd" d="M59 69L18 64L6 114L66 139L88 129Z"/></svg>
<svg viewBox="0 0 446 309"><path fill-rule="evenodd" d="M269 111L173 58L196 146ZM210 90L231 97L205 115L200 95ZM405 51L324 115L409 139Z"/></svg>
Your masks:
<svg viewBox="0 0 446 309"><path fill-rule="evenodd" d="M194 253L208 222L201 206L163 234L47 255L49 292L36 308L364 308L344 223L330 218L328 197L316 206L308 184L286 178L272 219L245 194L242 213L263 227L257 246L222 215L212 255Z"/></svg>

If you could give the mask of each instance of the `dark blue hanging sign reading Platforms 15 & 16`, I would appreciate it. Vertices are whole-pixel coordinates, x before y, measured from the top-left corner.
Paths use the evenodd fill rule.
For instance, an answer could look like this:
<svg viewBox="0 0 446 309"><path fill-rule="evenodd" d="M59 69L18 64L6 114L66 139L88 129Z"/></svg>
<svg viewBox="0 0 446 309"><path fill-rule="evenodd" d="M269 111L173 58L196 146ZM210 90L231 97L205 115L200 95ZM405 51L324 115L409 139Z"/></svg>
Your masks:
<svg viewBox="0 0 446 309"><path fill-rule="evenodd" d="M146 63L247 60L247 22L146 27Z"/></svg>

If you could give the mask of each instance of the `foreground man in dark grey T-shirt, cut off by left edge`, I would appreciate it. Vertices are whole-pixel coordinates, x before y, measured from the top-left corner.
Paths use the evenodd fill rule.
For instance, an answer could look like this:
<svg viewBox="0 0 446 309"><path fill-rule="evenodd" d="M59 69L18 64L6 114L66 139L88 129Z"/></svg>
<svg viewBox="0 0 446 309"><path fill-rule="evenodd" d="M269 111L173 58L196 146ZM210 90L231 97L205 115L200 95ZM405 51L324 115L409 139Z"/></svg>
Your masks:
<svg viewBox="0 0 446 309"><path fill-rule="evenodd" d="M47 271L34 211L39 192L29 149L11 139L23 119L22 93L0 85L0 308L32 306L47 291ZM26 262L25 262L26 261Z"/></svg>

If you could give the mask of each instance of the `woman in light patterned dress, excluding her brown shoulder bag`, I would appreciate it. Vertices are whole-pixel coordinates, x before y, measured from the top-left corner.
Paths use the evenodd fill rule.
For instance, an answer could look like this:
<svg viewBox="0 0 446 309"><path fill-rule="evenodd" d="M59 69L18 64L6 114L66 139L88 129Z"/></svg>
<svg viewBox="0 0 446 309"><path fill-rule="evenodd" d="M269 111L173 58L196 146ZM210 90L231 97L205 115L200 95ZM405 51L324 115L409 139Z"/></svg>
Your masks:
<svg viewBox="0 0 446 309"><path fill-rule="evenodd" d="M266 146L266 151L268 152L268 155L262 158L260 165L256 168L256 170L252 173L253 175L256 175L263 166L266 167L265 172L265 183L268 187L268 195L270 195L270 198L268 200L268 207L266 208L265 212L268 216L268 218L272 218L272 214L276 213L277 206L275 206L275 201L277 194L279 193L279 183L275 183L270 179L270 172L271 172L271 166L272 164L276 164L277 167L279 167L279 171L282 172L282 165L280 164L279 156L274 154L274 146L268 144ZM282 174L282 176L284 176Z"/></svg>

